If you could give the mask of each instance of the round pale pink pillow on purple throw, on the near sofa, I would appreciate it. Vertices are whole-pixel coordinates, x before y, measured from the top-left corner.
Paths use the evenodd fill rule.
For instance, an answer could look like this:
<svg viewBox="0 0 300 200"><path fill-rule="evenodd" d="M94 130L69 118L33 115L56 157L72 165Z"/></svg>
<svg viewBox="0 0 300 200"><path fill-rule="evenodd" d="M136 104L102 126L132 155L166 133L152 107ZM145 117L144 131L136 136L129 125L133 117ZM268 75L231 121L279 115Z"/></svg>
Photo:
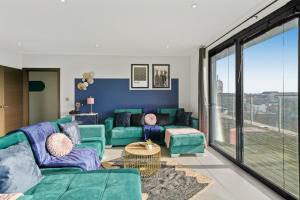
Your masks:
<svg viewBox="0 0 300 200"><path fill-rule="evenodd" d="M69 154L73 149L72 141L63 133L53 133L46 141L49 153L55 157Z"/></svg>

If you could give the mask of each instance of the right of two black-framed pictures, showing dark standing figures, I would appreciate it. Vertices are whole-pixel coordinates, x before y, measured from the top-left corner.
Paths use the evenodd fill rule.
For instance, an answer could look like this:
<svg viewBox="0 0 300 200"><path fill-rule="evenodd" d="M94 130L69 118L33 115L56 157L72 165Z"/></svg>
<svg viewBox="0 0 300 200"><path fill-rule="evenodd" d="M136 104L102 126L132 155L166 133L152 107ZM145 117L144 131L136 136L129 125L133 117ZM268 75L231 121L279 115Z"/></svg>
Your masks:
<svg viewBox="0 0 300 200"><path fill-rule="evenodd" d="M170 65L169 64L152 65L152 87L170 88Z"/></svg>

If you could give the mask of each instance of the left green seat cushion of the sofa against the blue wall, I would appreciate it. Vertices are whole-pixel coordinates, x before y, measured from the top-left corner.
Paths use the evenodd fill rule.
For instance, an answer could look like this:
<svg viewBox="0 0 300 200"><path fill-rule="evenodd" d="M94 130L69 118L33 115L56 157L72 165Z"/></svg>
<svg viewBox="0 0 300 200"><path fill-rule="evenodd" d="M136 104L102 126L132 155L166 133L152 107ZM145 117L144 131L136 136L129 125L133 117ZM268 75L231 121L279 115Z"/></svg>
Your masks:
<svg viewBox="0 0 300 200"><path fill-rule="evenodd" d="M142 127L115 127L111 131L112 138L142 138Z"/></svg>

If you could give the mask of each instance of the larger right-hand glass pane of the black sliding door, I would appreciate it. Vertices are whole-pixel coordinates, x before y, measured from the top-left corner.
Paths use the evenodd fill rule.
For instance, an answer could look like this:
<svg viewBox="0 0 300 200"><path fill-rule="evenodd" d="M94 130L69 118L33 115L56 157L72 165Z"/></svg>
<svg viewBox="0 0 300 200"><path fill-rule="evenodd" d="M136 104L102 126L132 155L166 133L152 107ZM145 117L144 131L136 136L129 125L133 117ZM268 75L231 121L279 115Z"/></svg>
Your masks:
<svg viewBox="0 0 300 200"><path fill-rule="evenodd" d="M243 45L244 164L299 195L298 19Z"/></svg>

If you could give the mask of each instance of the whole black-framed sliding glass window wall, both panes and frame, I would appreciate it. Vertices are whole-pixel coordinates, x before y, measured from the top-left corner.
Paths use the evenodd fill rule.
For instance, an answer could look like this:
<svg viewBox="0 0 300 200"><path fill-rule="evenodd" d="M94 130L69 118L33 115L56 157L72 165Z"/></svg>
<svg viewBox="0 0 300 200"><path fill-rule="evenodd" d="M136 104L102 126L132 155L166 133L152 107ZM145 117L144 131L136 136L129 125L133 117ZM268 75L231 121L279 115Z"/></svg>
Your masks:
<svg viewBox="0 0 300 200"><path fill-rule="evenodd" d="M213 148L299 199L300 2L293 3L209 52L209 131Z"/></svg>

